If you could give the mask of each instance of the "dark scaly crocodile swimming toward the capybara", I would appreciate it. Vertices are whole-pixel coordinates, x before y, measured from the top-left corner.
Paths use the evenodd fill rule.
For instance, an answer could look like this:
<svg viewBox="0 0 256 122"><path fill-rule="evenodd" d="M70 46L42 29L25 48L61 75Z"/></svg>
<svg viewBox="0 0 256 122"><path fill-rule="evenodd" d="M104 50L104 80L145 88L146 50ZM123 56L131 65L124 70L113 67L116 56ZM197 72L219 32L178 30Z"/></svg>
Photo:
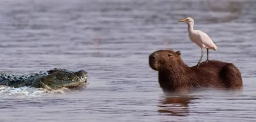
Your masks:
<svg viewBox="0 0 256 122"><path fill-rule="evenodd" d="M0 75L0 85L10 87L35 87L57 89L61 87L79 87L87 82L87 72L84 70L66 70L54 68L46 72L26 75Z"/></svg>

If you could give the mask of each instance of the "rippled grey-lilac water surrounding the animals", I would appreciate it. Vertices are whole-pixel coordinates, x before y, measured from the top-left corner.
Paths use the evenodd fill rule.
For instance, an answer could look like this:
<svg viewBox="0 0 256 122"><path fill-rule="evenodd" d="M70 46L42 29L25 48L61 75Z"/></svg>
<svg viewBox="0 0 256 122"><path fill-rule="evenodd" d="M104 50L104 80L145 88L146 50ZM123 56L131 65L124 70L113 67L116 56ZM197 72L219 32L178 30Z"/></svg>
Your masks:
<svg viewBox="0 0 256 122"><path fill-rule="evenodd" d="M87 88L0 87L0 121L255 121L256 1L0 1L1 73L84 69ZM187 16L218 46L210 59L233 62L243 92L198 91L166 98L148 56L181 50L189 66L200 49Z"/></svg>

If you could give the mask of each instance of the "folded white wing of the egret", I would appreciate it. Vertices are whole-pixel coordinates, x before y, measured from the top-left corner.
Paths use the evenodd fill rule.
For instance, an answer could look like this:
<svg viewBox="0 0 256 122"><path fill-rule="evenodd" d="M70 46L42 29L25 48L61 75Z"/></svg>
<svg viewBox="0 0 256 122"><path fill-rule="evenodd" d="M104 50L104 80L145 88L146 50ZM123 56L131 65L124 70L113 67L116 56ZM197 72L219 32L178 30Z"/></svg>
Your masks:
<svg viewBox="0 0 256 122"><path fill-rule="evenodd" d="M217 50L217 46L206 33L200 30L197 30L197 32L198 32L200 41L202 44L204 44L205 48Z"/></svg>

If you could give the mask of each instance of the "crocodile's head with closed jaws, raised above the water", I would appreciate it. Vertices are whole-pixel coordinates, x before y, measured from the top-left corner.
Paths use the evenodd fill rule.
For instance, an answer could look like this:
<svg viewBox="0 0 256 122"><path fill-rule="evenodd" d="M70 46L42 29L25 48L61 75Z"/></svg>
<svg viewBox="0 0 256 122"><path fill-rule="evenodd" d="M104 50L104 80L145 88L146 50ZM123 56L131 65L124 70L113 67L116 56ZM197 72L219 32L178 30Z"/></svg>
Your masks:
<svg viewBox="0 0 256 122"><path fill-rule="evenodd" d="M56 89L60 87L78 87L87 82L87 72L84 70L70 71L52 69L44 74L35 74L31 87Z"/></svg>

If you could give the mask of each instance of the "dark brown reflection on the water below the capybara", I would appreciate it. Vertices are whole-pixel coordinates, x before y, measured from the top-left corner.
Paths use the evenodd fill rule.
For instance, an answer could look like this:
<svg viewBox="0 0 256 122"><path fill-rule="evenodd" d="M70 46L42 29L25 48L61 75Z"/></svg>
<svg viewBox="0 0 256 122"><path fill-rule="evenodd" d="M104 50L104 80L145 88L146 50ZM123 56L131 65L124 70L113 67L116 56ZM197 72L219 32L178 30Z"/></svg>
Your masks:
<svg viewBox="0 0 256 122"><path fill-rule="evenodd" d="M188 96L165 97L159 100L159 113L168 113L168 115L187 116L189 115L188 104L192 99Z"/></svg>

